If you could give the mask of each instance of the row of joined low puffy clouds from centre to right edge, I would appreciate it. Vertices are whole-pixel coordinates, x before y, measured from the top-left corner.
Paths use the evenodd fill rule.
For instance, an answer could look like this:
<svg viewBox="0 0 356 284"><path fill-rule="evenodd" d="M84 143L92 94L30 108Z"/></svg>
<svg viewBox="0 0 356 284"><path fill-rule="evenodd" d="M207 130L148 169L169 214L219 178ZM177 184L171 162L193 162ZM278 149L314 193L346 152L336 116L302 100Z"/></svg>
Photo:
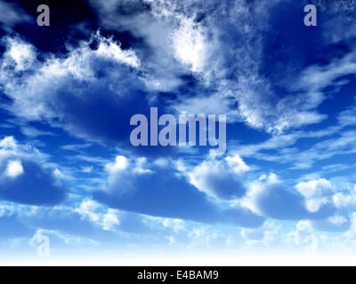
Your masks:
<svg viewBox="0 0 356 284"><path fill-rule="evenodd" d="M288 188L271 174L248 185L245 173L250 168L238 155L210 157L192 169L180 162L134 162L117 156L106 169L108 183L93 195L114 209L247 228L260 227L264 218L310 220L313 229L328 232L344 232L351 224L342 196L327 179ZM251 238L264 235L263 229L255 237L255 231L247 233Z"/></svg>

